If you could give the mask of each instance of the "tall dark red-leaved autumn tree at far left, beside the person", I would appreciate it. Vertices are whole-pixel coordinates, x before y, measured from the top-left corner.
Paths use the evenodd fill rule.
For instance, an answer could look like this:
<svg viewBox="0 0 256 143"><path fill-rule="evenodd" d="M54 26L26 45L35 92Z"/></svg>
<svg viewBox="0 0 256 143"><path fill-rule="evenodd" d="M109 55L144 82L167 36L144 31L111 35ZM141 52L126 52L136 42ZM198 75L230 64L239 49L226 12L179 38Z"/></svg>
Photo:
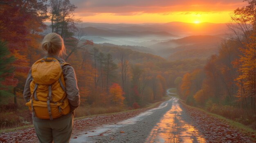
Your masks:
<svg viewBox="0 0 256 143"><path fill-rule="evenodd" d="M27 53L29 48L37 46L40 32L46 28L47 6L45 0L4 0L0 4L0 40L8 42L8 49L16 60L12 63L15 68L11 77L6 80L19 80L16 88L22 89L29 71Z"/></svg>

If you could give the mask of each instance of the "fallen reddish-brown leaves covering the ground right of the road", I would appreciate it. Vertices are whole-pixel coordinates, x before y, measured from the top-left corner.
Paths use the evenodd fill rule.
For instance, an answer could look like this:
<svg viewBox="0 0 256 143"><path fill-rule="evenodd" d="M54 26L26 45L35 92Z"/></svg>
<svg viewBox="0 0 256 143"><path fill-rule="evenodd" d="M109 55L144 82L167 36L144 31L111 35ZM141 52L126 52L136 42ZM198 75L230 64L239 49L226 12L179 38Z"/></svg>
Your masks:
<svg viewBox="0 0 256 143"><path fill-rule="evenodd" d="M202 111L183 106L195 126L202 132L209 143L252 143L247 134L230 128L224 121Z"/></svg>

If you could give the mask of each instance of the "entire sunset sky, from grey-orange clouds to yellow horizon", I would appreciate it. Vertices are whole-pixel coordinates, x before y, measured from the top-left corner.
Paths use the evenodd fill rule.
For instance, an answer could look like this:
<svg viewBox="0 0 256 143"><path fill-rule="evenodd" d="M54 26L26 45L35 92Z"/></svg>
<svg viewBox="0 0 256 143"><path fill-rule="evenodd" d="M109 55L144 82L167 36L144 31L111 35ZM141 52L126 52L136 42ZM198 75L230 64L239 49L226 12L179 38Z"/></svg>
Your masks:
<svg viewBox="0 0 256 143"><path fill-rule="evenodd" d="M74 15L97 23L227 23L243 0L70 0Z"/></svg>

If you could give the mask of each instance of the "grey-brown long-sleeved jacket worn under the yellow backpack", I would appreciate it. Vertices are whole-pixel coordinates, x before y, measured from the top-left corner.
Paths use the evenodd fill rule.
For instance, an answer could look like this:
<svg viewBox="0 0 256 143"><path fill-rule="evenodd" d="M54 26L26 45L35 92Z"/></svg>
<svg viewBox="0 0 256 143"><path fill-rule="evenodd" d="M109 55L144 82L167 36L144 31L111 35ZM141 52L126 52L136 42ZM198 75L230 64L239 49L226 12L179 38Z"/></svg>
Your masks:
<svg viewBox="0 0 256 143"><path fill-rule="evenodd" d="M55 56L47 56L47 57L54 57L60 62L65 62L63 59ZM62 68L63 70L63 76L65 79L66 84L66 95L67 99L70 103L70 112L73 112L80 104L80 96L79 96L79 89L77 87L77 80L76 80L76 74L74 71L74 68L70 65L65 65ZM30 92L30 82L31 82L31 69L29 70L29 73L27 75L26 84L23 91L23 97L26 102L29 102L31 92Z"/></svg>

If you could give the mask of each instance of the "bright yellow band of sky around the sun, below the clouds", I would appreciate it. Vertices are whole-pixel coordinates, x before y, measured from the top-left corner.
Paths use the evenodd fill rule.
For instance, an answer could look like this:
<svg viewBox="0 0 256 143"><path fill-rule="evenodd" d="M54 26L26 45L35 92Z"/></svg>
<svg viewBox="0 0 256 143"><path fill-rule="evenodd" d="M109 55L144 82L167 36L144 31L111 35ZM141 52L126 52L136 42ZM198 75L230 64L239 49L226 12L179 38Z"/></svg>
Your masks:
<svg viewBox="0 0 256 143"><path fill-rule="evenodd" d="M99 23L167 23L167 22L187 22L187 23L226 23L230 20L231 11L202 12L202 11L179 11L169 14L165 13L142 13L133 15L116 15L114 13L97 13L92 15L83 15L75 13L76 18L83 22Z"/></svg>

